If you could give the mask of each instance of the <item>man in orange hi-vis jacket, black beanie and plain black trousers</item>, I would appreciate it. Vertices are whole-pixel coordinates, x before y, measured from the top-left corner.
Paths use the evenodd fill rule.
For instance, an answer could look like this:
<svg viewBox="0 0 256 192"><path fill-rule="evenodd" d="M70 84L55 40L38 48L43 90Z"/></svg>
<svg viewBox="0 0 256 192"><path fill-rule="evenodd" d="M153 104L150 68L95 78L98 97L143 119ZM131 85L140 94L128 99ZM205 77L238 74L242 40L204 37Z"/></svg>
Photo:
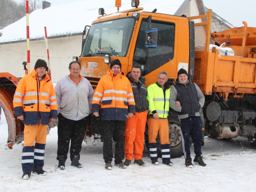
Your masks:
<svg viewBox="0 0 256 192"><path fill-rule="evenodd" d="M130 81L121 72L121 62L111 62L110 70L98 83L92 100L92 112L101 117L103 159L105 168L112 169L112 138L115 144L115 166L126 168L124 159L124 130L127 118L135 114L135 101ZM99 113L100 106L100 113Z"/></svg>

